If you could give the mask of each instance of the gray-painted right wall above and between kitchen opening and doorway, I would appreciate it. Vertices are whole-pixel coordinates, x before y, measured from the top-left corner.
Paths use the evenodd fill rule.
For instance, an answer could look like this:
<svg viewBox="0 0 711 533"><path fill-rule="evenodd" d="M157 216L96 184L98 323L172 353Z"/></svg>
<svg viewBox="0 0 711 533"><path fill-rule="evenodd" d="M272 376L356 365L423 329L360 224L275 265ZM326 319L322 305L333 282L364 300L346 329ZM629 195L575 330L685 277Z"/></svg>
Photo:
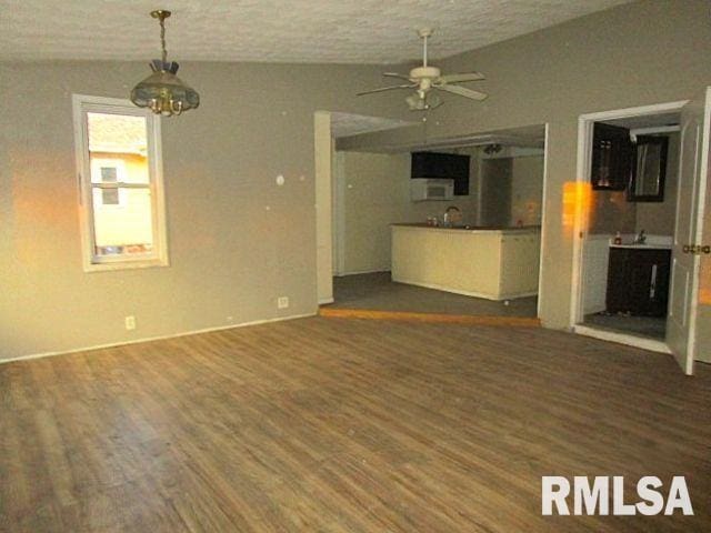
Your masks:
<svg viewBox="0 0 711 533"><path fill-rule="evenodd" d="M650 0L593 13L439 64L444 72L483 72L487 81L477 83L477 88L490 97L481 103L447 98L444 105L430 115L430 139L549 124L541 291L544 325L562 329L570 323L573 228L567 223L572 219L563 213L563 190L577 178L578 118L693 98L711 84L708 50L708 1ZM417 129L361 135L351 139L349 148L399 144L421 137ZM702 313L711 315L707 309ZM711 339L705 342L711 344Z"/></svg>

